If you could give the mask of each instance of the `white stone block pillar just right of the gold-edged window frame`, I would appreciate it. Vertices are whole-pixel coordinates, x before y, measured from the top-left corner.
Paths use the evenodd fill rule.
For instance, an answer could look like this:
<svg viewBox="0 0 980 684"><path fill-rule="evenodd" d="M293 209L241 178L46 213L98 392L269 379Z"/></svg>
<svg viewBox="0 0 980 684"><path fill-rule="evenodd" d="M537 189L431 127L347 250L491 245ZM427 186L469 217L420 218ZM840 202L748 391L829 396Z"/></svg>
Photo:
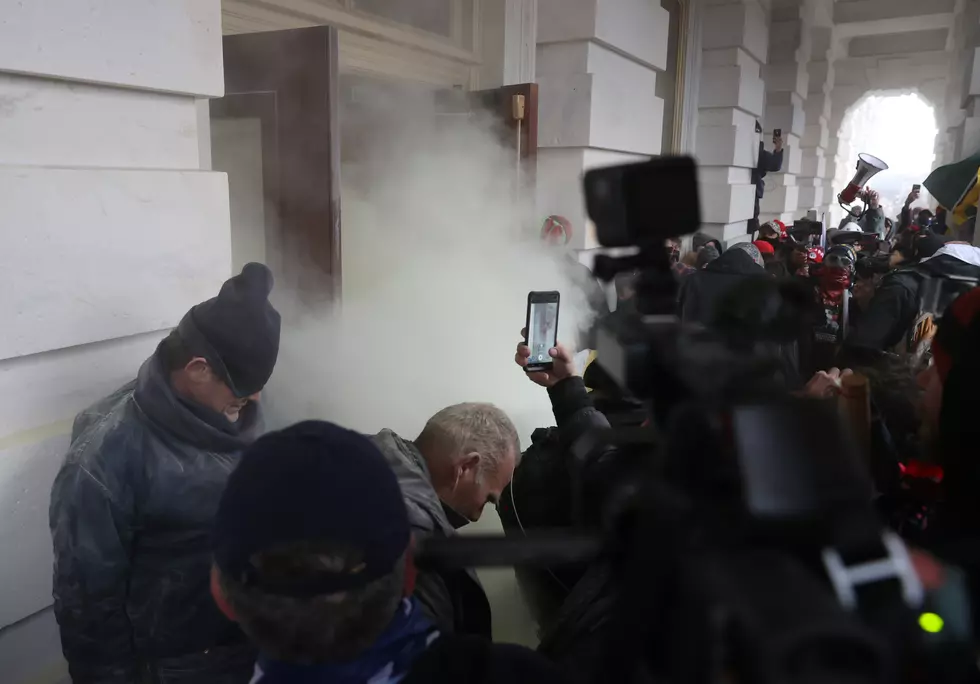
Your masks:
<svg viewBox="0 0 980 684"><path fill-rule="evenodd" d="M722 0L704 9L697 158L704 230L730 242L748 239L755 209L751 174L758 161L761 68L769 51L768 16L756 0Z"/></svg>

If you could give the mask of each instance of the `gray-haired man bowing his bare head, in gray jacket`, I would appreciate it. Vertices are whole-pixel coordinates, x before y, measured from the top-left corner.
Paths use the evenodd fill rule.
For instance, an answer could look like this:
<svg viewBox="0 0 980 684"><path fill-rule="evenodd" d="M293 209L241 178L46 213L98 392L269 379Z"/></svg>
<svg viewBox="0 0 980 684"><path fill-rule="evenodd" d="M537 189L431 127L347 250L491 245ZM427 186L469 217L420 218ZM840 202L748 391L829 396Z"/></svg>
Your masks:
<svg viewBox="0 0 980 684"><path fill-rule="evenodd" d="M398 477L413 536L451 536L497 504L521 452L517 429L492 404L456 404L409 441L382 430L374 442ZM415 596L444 632L490 638L490 603L472 570L419 572Z"/></svg>

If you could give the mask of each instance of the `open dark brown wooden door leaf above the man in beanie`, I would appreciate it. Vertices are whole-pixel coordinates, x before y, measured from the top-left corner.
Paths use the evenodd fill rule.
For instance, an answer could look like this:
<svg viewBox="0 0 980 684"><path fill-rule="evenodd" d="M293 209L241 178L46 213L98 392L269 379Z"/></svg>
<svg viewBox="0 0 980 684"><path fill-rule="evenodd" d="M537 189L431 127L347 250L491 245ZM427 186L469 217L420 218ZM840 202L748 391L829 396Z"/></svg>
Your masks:
<svg viewBox="0 0 980 684"><path fill-rule="evenodd" d="M341 294L337 54L337 31L328 26L226 36L225 96L211 101L212 130L231 138L223 144L233 147L234 136L248 131L224 124L255 122L264 250L252 251L264 251L277 282L305 303ZM245 171L220 168L220 161L215 168L229 173L234 205L235 174ZM248 201L249 189L241 192ZM234 214L233 206L232 230L244 230Z"/></svg>

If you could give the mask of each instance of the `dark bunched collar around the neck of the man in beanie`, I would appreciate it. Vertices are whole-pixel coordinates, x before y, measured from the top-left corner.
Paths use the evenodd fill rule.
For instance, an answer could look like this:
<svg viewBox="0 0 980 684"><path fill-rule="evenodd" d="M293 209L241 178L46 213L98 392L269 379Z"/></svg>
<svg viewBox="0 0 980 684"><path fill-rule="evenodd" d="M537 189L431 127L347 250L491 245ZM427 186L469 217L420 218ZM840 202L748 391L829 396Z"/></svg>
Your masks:
<svg viewBox="0 0 980 684"><path fill-rule="evenodd" d="M152 425L199 449L240 451L261 433L261 412L254 402L245 405L237 423L231 423L218 412L179 397L158 354L140 368L133 400Z"/></svg>

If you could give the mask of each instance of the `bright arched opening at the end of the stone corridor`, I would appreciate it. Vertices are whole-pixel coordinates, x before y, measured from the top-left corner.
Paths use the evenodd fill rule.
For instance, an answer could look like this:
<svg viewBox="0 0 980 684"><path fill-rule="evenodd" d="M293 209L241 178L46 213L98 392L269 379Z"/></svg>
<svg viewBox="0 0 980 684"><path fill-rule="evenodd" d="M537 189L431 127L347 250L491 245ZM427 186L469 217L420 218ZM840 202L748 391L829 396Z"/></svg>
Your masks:
<svg viewBox="0 0 980 684"><path fill-rule="evenodd" d="M866 95L841 122L834 195L854 175L858 154L868 152L888 164L888 170L875 176L869 185L881 194L885 216L895 217L912 185L922 183L932 170L938 132L935 109L918 93ZM923 188L916 205L930 202ZM843 215L839 206L831 210L835 222Z"/></svg>

